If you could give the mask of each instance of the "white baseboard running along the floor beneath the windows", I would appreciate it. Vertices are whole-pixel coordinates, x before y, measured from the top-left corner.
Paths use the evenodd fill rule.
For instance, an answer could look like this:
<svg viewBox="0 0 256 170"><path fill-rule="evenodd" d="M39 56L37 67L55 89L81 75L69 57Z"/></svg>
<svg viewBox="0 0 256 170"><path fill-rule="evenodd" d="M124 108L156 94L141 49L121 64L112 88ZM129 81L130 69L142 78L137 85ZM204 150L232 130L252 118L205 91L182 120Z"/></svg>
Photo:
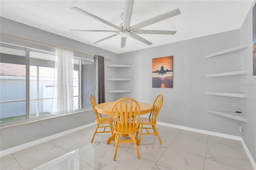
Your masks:
<svg viewBox="0 0 256 170"><path fill-rule="evenodd" d="M11 153L14 153L14 152L18 152L20 150L23 150L23 149L26 149L26 148L29 148L29 147L32 147L32 146L35 146L37 144L41 144L43 142L47 142L49 140L52 140L52 139L55 139L55 138L58 138L58 137L61 137L61 136L64 136L64 135L67 135L67 134L70 134L72 132L76 132L78 130L82 130L84 128L87 128L87 127L91 127L93 125L96 125L96 123L89 123L87 125L84 125L84 126L81 126L81 127L77 127L77 128L73 128L73 129L70 129L70 130L66 130L64 132L60 132L60 133L57 133L57 134L53 134L51 136L47 136L45 138L41 138L41 139L38 139L38 140L34 140L32 142L28 142L28 143L25 143L25 144L21 144L19 146L14 146L12 148L8 148L6 150L2 150L0 151L0 156L6 156L8 154L11 154Z"/></svg>

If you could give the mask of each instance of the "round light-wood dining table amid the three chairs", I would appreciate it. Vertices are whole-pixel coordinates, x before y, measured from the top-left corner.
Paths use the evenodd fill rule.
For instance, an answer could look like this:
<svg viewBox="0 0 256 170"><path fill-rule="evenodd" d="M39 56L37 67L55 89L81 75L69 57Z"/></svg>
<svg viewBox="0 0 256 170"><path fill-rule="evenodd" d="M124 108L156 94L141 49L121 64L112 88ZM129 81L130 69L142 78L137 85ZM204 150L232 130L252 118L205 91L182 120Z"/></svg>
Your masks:
<svg viewBox="0 0 256 170"><path fill-rule="evenodd" d="M95 106L95 109L98 111L98 113L103 115L109 115L112 116L112 105L114 104L114 101L106 102L106 103L100 103ZM144 115L146 113L150 113L153 109L153 106L148 103L138 102L140 105L140 115ZM125 103L124 103L125 104ZM107 144L109 144L112 140L114 140L115 134L110 136L107 140Z"/></svg>

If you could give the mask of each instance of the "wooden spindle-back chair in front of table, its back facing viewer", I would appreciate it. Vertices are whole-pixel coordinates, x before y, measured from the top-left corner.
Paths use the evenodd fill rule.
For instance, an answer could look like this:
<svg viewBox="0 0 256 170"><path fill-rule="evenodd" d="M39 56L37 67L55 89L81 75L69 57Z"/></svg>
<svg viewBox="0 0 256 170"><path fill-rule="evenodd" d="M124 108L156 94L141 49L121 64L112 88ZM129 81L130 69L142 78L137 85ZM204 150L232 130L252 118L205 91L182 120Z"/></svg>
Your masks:
<svg viewBox="0 0 256 170"><path fill-rule="evenodd" d="M138 121L140 117L140 105L131 98L122 98L117 100L112 106L112 117L114 121L114 133L116 145L114 160L116 160L116 151L119 143L134 143L138 159L140 154L138 151L138 140L135 133L138 132ZM129 139L120 140L120 135L128 135Z"/></svg>

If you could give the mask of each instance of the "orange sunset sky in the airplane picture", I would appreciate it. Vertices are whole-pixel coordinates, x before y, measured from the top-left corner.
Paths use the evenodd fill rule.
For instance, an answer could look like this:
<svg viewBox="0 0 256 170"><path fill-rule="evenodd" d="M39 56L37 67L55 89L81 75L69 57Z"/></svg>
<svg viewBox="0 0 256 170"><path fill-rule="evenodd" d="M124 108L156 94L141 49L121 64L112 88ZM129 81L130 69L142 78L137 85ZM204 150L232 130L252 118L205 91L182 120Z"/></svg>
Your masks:
<svg viewBox="0 0 256 170"><path fill-rule="evenodd" d="M165 70L172 70L172 56L152 59L152 71L160 70L162 65L164 66ZM158 77L156 76L156 73L152 73L152 75L153 77ZM172 72L170 72L168 76L172 76Z"/></svg>

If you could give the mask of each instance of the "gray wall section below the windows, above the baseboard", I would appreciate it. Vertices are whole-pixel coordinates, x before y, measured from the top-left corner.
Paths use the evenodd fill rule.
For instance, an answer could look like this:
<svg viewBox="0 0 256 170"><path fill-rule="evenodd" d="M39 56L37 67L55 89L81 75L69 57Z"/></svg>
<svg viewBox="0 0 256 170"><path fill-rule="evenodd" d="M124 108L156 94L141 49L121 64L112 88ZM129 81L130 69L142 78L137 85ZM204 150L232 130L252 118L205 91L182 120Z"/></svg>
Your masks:
<svg viewBox="0 0 256 170"><path fill-rule="evenodd" d="M84 111L14 127L1 128L0 150L6 150L95 121L94 111Z"/></svg>

